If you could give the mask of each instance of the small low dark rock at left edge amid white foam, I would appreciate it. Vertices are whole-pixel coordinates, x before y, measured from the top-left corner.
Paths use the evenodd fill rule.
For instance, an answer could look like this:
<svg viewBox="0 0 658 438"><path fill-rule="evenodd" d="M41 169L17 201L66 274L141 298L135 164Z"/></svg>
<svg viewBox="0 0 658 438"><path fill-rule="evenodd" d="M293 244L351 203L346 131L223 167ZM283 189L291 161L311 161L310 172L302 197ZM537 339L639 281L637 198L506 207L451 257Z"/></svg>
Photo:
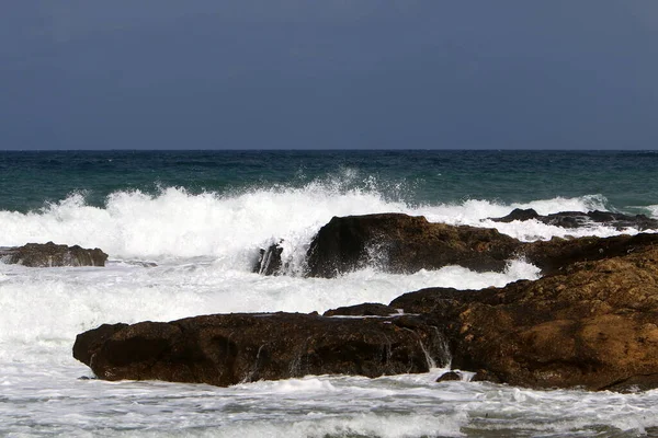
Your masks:
<svg viewBox="0 0 658 438"><path fill-rule="evenodd" d="M101 250L86 250L78 245L27 243L23 246L0 249L0 261L31 267L105 266L107 254Z"/></svg>

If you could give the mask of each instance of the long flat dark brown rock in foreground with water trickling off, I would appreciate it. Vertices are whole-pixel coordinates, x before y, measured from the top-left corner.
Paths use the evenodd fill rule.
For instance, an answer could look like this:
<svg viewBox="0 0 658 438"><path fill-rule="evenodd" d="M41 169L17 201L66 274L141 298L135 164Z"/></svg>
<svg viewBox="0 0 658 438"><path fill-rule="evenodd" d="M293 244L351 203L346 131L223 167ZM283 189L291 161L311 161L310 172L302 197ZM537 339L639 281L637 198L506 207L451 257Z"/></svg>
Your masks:
<svg viewBox="0 0 658 438"><path fill-rule="evenodd" d="M216 314L102 325L76 338L73 356L105 380L230 385L306 374L378 377L446 364L440 334L421 316L325 318Z"/></svg>

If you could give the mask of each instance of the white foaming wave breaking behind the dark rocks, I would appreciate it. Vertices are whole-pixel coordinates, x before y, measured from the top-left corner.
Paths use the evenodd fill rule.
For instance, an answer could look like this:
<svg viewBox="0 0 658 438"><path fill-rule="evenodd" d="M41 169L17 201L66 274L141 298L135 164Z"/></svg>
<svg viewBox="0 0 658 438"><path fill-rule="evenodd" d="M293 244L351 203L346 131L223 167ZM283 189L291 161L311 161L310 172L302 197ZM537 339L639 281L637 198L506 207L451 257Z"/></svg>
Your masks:
<svg viewBox="0 0 658 438"><path fill-rule="evenodd" d="M345 188L344 181L225 194L191 194L178 187L162 187L157 194L118 191L110 194L101 207L90 205L84 193L73 193L36 211L0 211L0 245L54 241L101 247L111 257L122 260L209 256L223 261L228 268L245 269L259 247L280 239L284 240L284 257L303 257L313 235L333 216L423 215L432 222L498 228L503 233L533 240L575 232L533 221L509 224L487 218L504 216L514 208L534 208L547 215L605 209L606 204L603 196L589 195L523 204L466 199L417 206L387 198L385 193L390 192L378 189L376 182L365 188ZM619 232L593 227L576 233Z"/></svg>

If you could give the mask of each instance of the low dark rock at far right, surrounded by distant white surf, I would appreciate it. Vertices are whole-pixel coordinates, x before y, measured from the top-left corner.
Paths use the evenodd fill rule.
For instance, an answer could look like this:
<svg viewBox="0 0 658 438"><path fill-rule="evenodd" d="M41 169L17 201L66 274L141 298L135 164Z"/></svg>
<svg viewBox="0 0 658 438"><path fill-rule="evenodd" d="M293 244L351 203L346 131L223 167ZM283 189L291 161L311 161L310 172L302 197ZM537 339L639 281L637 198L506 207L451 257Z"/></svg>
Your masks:
<svg viewBox="0 0 658 438"><path fill-rule="evenodd" d="M600 223L608 227L614 227L617 230L625 228L635 228L643 230L658 230L658 220L648 218L645 215L623 215L619 212L593 210L588 212L582 211L560 211L547 216L541 216L532 208L526 210L517 208L511 214L502 218L491 218L496 222L511 222L513 220L538 220L540 222L561 227L561 228L579 228L587 227L592 223Z"/></svg>

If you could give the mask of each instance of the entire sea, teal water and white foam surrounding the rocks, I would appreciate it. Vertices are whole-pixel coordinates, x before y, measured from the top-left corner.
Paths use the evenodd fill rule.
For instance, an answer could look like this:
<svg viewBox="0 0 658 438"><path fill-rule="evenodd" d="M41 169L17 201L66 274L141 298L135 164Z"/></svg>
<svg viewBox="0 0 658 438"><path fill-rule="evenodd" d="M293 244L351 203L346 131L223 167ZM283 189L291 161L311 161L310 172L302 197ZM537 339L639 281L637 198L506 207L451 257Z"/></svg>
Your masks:
<svg viewBox="0 0 658 438"><path fill-rule="evenodd" d="M103 323L321 313L426 287L479 289L540 276L510 260L502 273L447 266L394 275L373 265L306 278L306 250L333 216L422 215L523 241L638 232L490 220L514 208L658 218L658 152L0 152L0 246L54 241L110 256L105 267L0 263L0 436L658 436L658 390L535 391L470 382L468 373L436 383L447 368L229 388L107 382L72 357L76 335ZM252 273L259 250L280 240L284 275Z"/></svg>

